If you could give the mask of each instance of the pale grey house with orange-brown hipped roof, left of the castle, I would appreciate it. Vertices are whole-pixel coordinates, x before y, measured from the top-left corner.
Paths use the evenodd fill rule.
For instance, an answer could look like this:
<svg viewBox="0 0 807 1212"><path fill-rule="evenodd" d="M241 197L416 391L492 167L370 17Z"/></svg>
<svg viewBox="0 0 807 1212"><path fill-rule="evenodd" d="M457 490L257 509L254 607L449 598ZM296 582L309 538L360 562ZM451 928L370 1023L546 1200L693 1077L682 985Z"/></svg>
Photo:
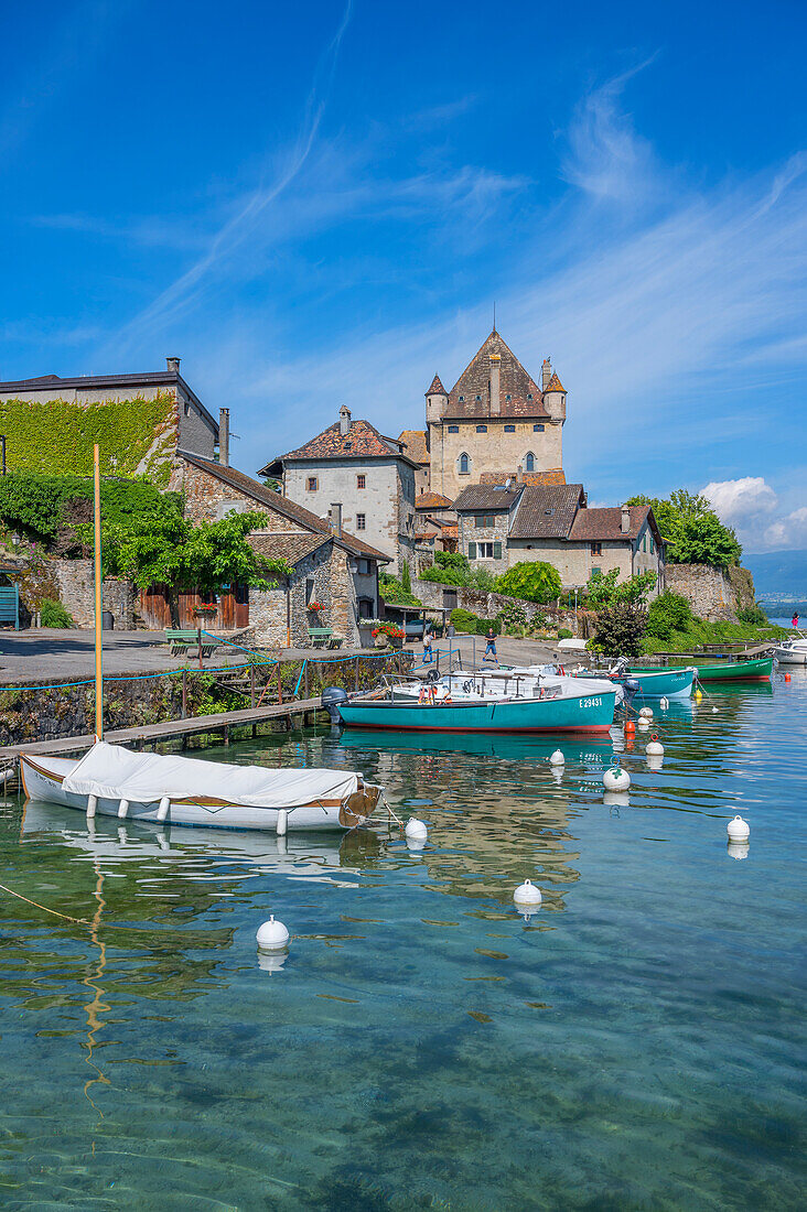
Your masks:
<svg viewBox="0 0 807 1212"><path fill-rule="evenodd" d="M383 551L399 574L414 564L419 471L399 439L353 421L342 406L335 424L258 475L279 479L284 497L316 514L341 510L346 528Z"/></svg>

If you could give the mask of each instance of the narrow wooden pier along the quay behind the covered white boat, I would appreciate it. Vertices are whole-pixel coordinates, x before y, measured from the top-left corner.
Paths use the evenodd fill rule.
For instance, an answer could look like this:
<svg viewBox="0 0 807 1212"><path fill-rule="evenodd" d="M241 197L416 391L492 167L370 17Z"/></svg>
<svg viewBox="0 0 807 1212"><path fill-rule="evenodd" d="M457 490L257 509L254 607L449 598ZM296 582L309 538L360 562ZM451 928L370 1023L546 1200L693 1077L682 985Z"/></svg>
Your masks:
<svg viewBox="0 0 807 1212"><path fill-rule="evenodd" d="M126 742L142 749L147 744L155 744L160 741L172 741L182 738L183 745L191 736L199 736L204 732L217 732L223 743L229 744L231 728L251 728L256 734L257 725L267 720L282 720L291 731L294 718L299 716L299 725L305 725L322 711L322 699L299 698L288 703L269 703L266 707L248 707L243 711L218 711L215 715L197 715L186 720L165 720L163 724L146 724L135 728L115 728L104 733L104 741L112 744ZM74 754L84 749L90 749L95 737L86 733L83 737L59 737L56 741L32 741L30 744L0 747L1 761L15 761L21 753L27 754Z"/></svg>

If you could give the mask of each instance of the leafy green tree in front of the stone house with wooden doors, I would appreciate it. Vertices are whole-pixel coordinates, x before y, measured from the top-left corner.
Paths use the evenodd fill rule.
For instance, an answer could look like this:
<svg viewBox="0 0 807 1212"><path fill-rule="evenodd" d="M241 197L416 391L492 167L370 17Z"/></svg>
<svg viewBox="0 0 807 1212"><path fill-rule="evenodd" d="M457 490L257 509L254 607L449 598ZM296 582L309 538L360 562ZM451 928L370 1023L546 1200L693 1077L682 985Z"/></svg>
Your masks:
<svg viewBox="0 0 807 1212"><path fill-rule="evenodd" d="M129 577L138 589L165 585L171 623L180 625L180 594L216 593L222 585L273 589L272 573L290 576L285 560L258 555L246 542L265 524L260 513L228 514L218 522L194 525L175 502L114 525L103 536L104 566Z"/></svg>

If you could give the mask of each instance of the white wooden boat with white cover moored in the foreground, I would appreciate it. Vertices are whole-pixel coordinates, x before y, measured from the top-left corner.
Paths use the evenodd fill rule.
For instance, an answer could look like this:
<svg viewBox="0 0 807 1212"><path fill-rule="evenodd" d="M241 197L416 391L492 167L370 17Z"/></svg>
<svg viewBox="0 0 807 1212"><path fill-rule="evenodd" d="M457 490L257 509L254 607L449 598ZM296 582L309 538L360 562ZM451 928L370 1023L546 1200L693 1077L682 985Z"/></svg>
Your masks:
<svg viewBox="0 0 807 1212"><path fill-rule="evenodd" d="M353 829L381 788L357 771L267 770L132 753L96 742L83 758L21 754L25 795L120 819L220 829Z"/></svg>

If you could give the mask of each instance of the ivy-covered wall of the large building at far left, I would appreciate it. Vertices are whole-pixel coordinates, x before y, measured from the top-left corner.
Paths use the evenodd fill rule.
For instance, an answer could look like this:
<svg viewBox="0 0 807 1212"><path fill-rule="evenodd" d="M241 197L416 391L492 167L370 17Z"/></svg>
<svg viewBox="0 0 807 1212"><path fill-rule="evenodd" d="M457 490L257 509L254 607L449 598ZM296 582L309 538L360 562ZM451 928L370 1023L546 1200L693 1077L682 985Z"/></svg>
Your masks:
<svg viewBox="0 0 807 1212"><path fill-rule="evenodd" d="M97 442L102 475L142 474L167 487L177 425L171 391L81 404L0 400L0 433L6 435L6 464L12 471L91 475Z"/></svg>

